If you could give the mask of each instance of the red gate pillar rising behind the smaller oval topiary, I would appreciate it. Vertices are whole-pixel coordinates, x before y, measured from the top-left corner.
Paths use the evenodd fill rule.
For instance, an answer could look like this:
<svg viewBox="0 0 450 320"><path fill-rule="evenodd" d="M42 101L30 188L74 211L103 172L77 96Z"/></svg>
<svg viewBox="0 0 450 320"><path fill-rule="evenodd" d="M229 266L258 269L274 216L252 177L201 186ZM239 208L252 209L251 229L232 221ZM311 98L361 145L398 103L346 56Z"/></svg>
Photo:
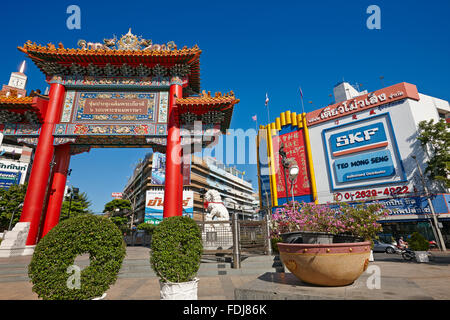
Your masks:
<svg viewBox="0 0 450 320"><path fill-rule="evenodd" d="M172 81L169 89L164 218L182 215L183 179L181 173L181 138L180 123L175 102L176 98L181 98L182 95L182 86L179 81Z"/></svg>

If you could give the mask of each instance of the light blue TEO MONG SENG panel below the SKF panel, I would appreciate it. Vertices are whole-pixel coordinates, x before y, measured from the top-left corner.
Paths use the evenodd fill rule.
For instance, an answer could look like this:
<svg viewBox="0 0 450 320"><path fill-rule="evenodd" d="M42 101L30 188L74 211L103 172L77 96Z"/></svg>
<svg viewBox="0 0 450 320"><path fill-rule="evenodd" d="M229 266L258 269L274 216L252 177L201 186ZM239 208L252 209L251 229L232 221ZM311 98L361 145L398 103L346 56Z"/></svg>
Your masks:
<svg viewBox="0 0 450 320"><path fill-rule="evenodd" d="M345 157L334 162L337 182L374 179L395 174L394 163L389 150L381 150L352 157Z"/></svg>

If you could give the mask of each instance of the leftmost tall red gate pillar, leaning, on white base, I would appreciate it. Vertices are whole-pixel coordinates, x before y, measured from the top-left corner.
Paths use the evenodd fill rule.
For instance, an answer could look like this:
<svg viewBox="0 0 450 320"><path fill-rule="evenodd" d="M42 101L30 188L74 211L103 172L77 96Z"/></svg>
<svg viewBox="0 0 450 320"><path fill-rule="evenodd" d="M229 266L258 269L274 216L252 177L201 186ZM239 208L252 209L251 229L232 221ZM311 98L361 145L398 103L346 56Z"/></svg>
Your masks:
<svg viewBox="0 0 450 320"><path fill-rule="evenodd" d="M49 101L44 123L41 126L38 145L34 155L27 194L23 203L20 222L30 222L26 245L35 245L44 205L45 191L50 175L50 163L53 158L53 128L59 121L64 98L64 86L58 83L50 85Z"/></svg>

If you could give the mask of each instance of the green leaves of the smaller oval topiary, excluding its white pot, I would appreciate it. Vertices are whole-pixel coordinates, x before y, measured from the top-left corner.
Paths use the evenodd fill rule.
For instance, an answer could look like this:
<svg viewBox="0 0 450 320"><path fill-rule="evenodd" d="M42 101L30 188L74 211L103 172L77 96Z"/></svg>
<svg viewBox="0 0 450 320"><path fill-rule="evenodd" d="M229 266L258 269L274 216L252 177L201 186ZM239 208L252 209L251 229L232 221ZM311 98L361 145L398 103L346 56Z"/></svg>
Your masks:
<svg viewBox="0 0 450 320"><path fill-rule="evenodd" d="M192 281L202 252L200 227L193 219L165 218L153 232L150 264L162 282Z"/></svg>

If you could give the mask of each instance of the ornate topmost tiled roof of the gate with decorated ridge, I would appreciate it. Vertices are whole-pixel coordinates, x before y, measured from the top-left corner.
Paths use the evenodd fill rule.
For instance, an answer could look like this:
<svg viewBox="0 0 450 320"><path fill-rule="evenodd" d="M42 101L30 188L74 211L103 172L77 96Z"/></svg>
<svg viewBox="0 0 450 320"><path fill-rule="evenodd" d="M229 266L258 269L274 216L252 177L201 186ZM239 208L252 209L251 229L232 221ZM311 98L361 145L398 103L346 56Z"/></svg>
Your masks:
<svg viewBox="0 0 450 320"><path fill-rule="evenodd" d="M67 49L62 43L56 47L27 41L18 49L47 76L188 76L189 88L195 93L200 91L202 51L197 45L178 49L173 41L154 44L129 30L120 39L114 36L103 39L103 43L79 40L78 46Z"/></svg>

